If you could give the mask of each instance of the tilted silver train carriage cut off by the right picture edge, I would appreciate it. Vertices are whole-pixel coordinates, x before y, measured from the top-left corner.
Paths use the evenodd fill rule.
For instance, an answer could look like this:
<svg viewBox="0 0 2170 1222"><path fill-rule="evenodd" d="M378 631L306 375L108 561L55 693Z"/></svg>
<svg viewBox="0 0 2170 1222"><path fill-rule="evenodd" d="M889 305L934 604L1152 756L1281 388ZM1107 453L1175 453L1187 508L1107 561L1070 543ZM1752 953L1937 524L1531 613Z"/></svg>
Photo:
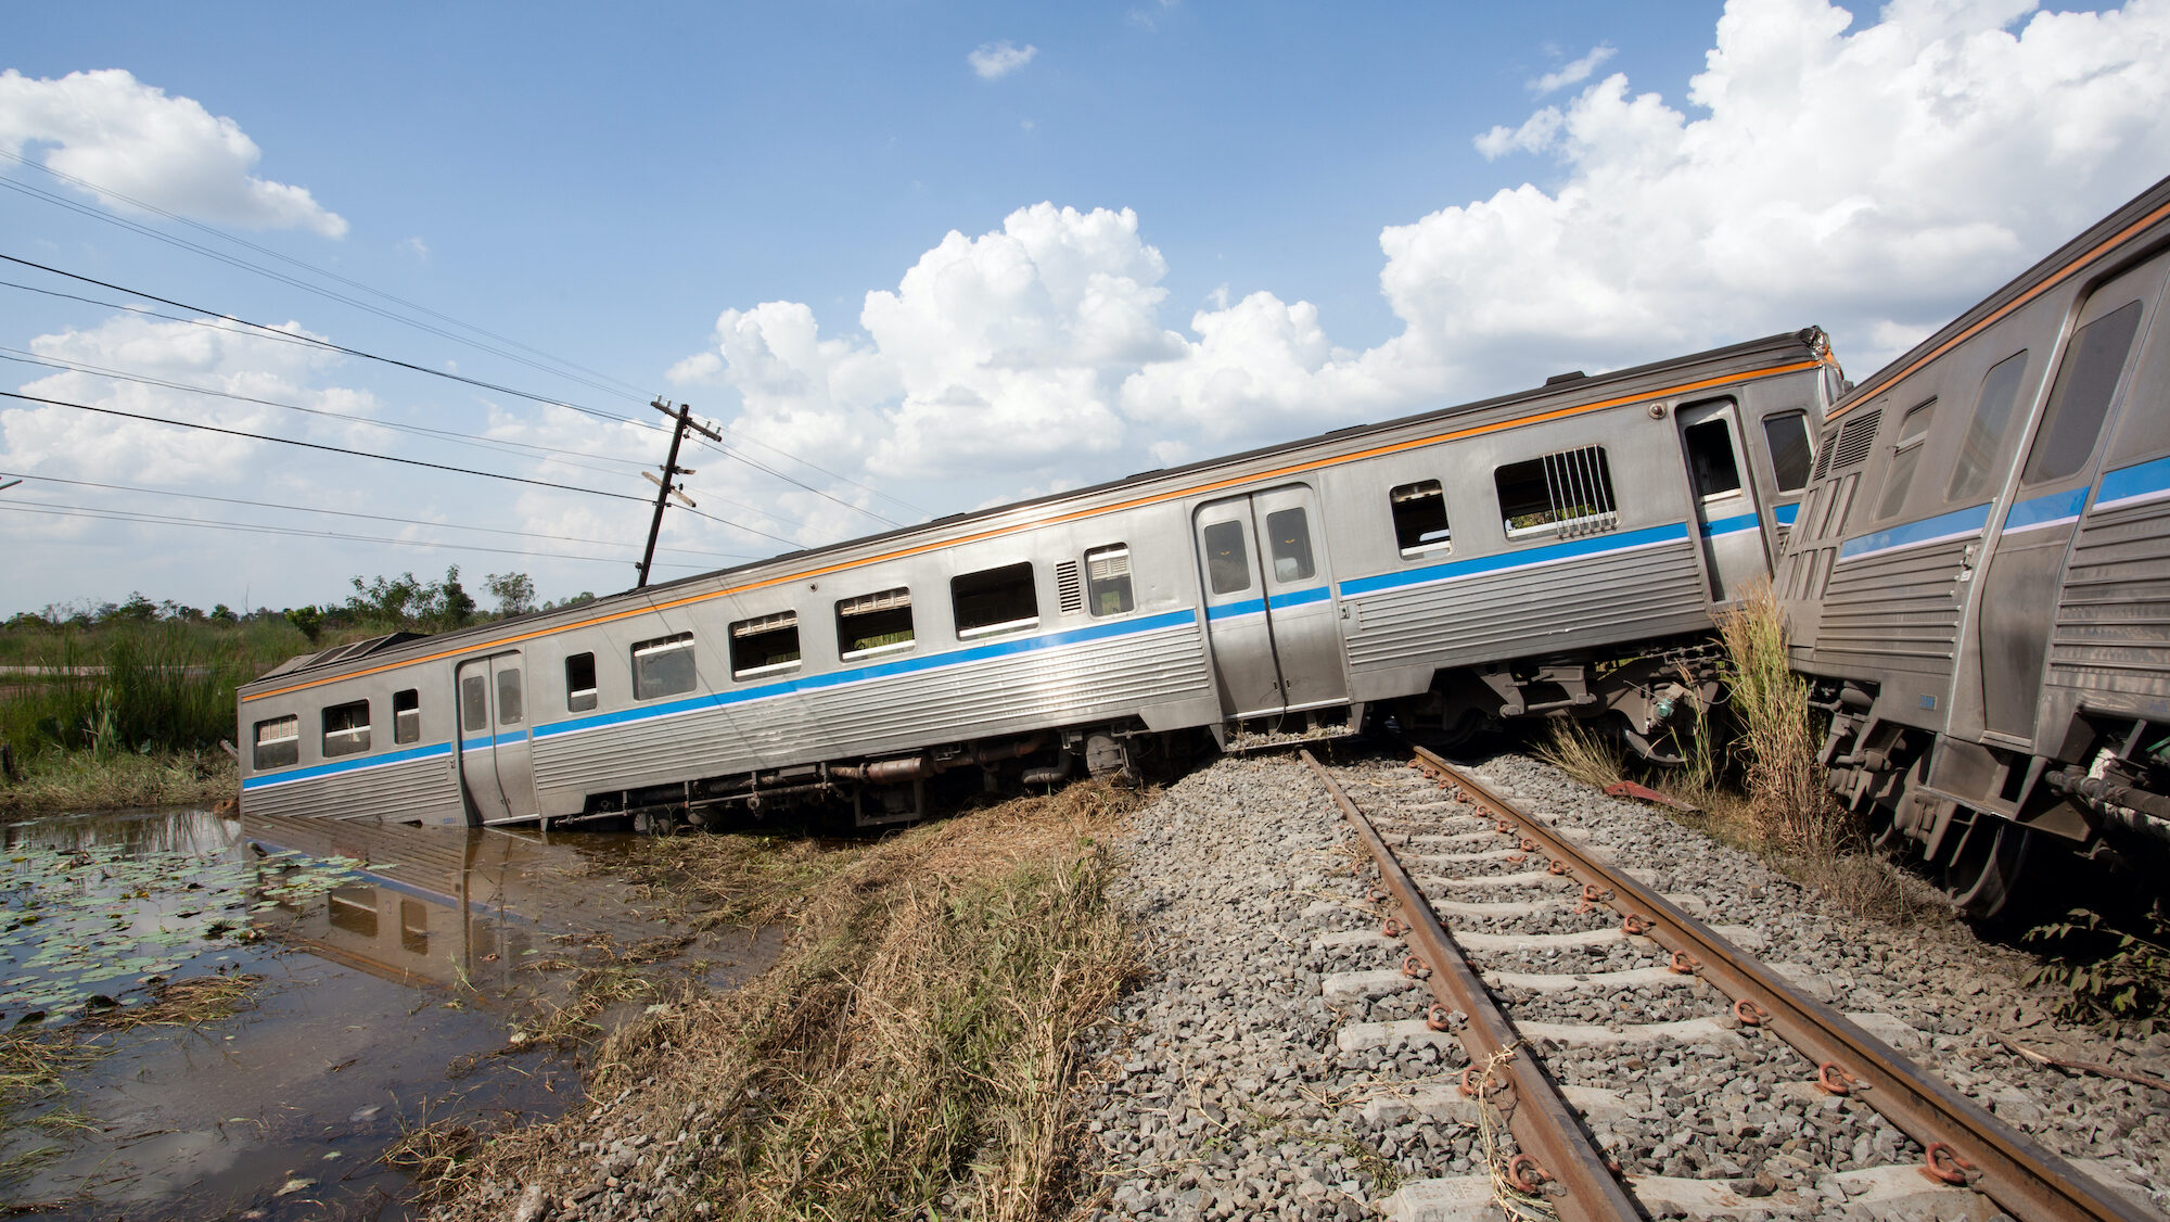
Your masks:
<svg viewBox="0 0 2170 1222"><path fill-rule="evenodd" d="M2170 827L2166 278L2170 180L1847 393L1777 573L1834 788L1977 914Z"/></svg>

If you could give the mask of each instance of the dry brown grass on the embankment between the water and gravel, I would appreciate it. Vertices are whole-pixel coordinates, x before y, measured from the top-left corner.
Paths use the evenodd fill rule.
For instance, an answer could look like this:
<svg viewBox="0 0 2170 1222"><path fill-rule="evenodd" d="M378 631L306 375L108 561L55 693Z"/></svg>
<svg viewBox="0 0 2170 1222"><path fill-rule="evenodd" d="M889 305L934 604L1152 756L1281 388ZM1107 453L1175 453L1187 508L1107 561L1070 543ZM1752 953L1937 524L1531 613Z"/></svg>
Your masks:
<svg viewBox="0 0 2170 1222"><path fill-rule="evenodd" d="M1074 1042L1137 970L1102 840L1144 801L1078 784L875 844L666 842L703 901L801 927L755 983L688 988L605 1040L588 1094L621 1137L688 1133L666 1176L684 1215L1059 1215ZM590 1179L571 1150L603 1116L493 1140L438 1215Z"/></svg>

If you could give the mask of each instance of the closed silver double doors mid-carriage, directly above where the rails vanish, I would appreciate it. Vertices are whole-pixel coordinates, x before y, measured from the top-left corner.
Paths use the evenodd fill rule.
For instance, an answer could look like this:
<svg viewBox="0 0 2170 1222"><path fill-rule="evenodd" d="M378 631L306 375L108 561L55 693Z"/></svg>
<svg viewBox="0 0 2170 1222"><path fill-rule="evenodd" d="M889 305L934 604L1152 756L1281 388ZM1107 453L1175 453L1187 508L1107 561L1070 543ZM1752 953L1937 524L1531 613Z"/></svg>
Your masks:
<svg viewBox="0 0 2170 1222"><path fill-rule="evenodd" d="M1348 701L1324 532L1309 486L1200 506L1198 564L1228 716Z"/></svg>

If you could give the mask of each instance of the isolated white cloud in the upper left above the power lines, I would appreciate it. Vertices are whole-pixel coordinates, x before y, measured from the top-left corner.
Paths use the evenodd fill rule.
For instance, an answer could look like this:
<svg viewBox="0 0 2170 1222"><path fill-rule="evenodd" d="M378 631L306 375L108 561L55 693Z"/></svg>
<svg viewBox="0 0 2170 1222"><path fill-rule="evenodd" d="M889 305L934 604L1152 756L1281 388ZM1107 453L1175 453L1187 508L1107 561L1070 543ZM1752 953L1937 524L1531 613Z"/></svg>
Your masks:
<svg viewBox="0 0 2170 1222"><path fill-rule="evenodd" d="M254 174L263 150L241 124L119 67L59 80L0 72L0 150L41 152L43 165L95 184L100 202L124 211L132 204L104 191L200 221L347 232L306 187Z"/></svg>

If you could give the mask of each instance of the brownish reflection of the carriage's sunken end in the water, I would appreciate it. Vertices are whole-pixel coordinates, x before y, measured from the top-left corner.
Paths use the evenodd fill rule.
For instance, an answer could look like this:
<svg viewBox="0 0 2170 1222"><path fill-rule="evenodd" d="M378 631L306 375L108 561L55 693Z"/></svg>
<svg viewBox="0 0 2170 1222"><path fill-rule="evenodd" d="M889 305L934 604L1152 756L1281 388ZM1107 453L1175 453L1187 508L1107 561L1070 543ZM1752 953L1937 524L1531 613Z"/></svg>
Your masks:
<svg viewBox="0 0 2170 1222"><path fill-rule="evenodd" d="M295 870L323 860L358 862L321 894L258 914L278 938L323 959L399 983L510 983L549 944L549 920L584 909L595 896L577 886L577 855L564 847L501 831L417 829L241 816L241 836L265 881L293 855ZM315 862L304 862L315 860Z"/></svg>

